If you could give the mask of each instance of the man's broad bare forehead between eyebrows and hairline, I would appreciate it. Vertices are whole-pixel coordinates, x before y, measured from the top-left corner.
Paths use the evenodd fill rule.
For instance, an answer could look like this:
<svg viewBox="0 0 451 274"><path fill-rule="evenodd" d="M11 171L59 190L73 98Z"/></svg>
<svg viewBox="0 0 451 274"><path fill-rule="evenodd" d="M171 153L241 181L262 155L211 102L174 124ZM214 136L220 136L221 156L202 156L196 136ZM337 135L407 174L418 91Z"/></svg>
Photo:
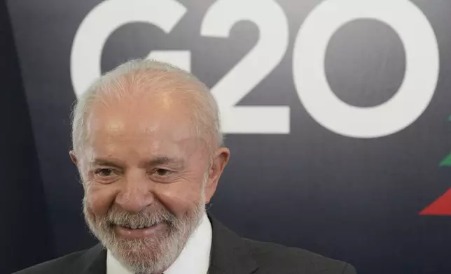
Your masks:
<svg viewBox="0 0 451 274"><path fill-rule="evenodd" d="M182 154L198 148L190 105L170 93L96 101L87 123L95 154Z"/></svg>

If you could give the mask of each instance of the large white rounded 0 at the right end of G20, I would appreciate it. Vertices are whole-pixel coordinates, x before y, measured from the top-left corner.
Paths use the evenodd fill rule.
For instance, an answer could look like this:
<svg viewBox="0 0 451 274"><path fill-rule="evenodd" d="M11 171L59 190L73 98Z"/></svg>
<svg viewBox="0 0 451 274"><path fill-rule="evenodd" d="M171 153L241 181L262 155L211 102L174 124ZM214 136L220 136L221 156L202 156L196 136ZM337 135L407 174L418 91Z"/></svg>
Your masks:
<svg viewBox="0 0 451 274"><path fill-rule="evenodd" d="M324 70L331 36L347 22L361 18L389 24L405 50L405 77L398 92L369 108L341 101L329 87ZM343 136L377 138L408 127L429 105L438 71L433 29L422 11L407 0L324 1L307 16L294 44L293 77L300 101L314 120Z"/></svg>

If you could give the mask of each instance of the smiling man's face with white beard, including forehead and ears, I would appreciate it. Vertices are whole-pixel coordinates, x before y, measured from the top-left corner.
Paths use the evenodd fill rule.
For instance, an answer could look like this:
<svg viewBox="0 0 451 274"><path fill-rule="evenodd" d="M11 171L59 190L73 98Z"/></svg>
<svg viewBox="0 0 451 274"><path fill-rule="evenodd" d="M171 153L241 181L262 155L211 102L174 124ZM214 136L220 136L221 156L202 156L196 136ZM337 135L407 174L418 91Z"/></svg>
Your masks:
<svg viewBox="0 0 451 274"><path fill-rule="evenodd" d="M90 229L132 271L179 255L228 161L193 135L189 106L168 95L95 103L81 170ZM211 156L213 162L211 163Z"/></svg>

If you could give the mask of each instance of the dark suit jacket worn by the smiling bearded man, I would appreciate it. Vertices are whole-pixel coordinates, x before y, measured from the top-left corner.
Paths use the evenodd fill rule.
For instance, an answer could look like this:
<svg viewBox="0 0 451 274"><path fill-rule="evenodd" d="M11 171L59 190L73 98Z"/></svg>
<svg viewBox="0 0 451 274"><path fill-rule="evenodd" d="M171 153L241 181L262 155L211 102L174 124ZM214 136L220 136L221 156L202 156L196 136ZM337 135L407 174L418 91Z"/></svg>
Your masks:
<svg viewBox="0 0 451 274"><path fill-rule="evenodd" d="M240 238L211 216L210 220L213 238L209 274L356 274L353 266L341 261L298 248ZM96 245L16 274L105 273L106 250Z"/></svg>

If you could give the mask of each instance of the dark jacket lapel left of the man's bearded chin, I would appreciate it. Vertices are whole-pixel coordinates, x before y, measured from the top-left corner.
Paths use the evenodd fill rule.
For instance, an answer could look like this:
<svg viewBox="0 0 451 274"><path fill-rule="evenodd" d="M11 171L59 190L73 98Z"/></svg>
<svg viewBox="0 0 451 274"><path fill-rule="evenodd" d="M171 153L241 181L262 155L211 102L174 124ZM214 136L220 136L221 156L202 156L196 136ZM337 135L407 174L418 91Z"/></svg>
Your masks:
<svg viewBox="0 0 451 274"><path fill-rule="evenodd" d="M106 274L106 250L100 244L86 250L68 274Z"/></svg>

